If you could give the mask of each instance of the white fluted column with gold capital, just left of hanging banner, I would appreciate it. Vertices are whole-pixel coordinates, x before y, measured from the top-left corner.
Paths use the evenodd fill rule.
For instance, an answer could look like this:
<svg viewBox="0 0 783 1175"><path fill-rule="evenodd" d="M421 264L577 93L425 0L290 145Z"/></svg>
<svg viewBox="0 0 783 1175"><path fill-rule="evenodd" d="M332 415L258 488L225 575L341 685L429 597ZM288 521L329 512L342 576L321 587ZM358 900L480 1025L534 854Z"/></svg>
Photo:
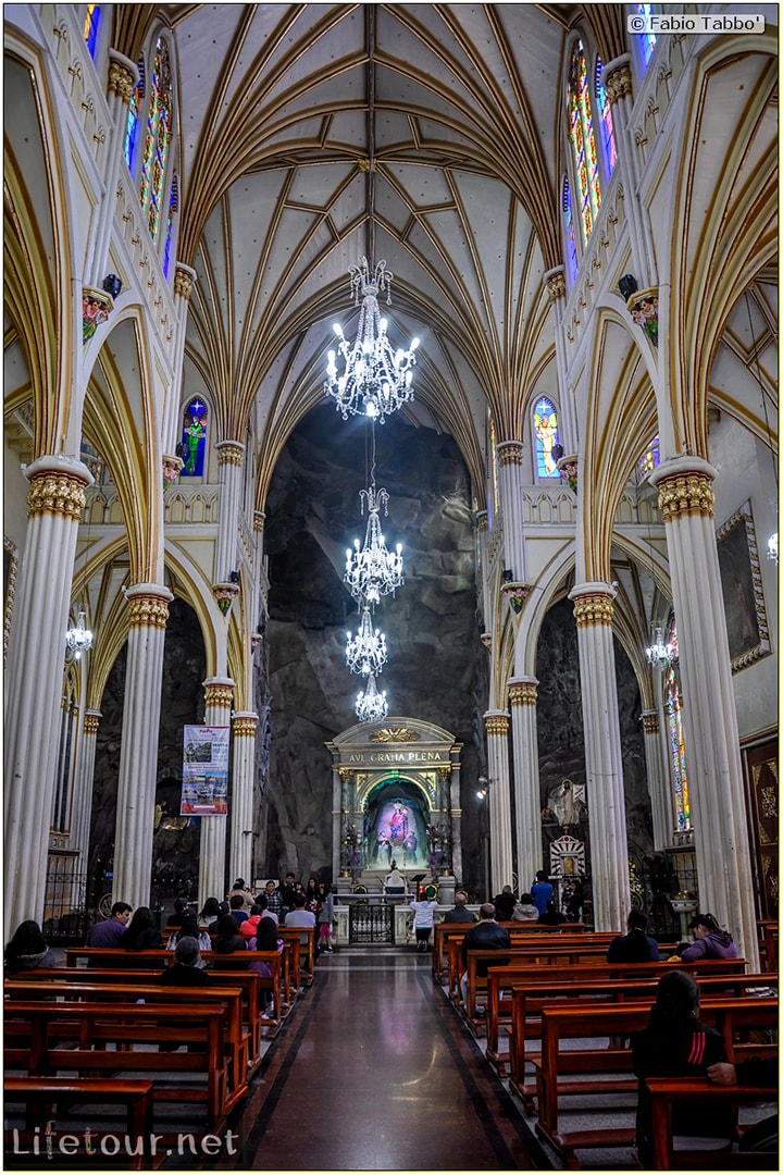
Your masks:
<svg viewBox="0 0 783 1175"><path fill-rule="evenodd" d="M128 589L128 660L114 837L113 900L148 906L168 602L161 584Z"/></svg>

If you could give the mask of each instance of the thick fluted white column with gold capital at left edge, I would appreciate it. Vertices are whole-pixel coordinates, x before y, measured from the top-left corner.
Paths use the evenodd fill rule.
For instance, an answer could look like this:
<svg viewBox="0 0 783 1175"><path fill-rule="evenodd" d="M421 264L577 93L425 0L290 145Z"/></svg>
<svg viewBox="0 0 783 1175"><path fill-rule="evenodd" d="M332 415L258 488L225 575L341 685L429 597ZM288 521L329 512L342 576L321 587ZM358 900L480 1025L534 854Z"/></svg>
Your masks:
<svg viewBox="0 0 783 1175"><path fill-rule="evenodd" d="M85 489L93 484L75 457L40 457L25 476L28 519L6 671L7 936L25 919L43 919L70 582Z"/></svg>

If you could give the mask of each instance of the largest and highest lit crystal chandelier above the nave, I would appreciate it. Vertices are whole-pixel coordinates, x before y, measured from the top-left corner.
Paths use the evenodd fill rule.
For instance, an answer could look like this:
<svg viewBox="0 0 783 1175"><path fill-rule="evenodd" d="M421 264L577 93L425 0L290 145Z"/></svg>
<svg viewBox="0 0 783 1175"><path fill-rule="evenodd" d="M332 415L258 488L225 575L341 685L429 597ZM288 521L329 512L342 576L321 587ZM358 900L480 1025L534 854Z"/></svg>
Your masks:
<svg viewBox="0 0 783 1175"><path fill-rule="evenodd" d="M391 306L393 275L387 271L385 261L379 261L374 273L371 273L367 258L362 257L358 266L350 267L349 273L355 306L359 304L362 296L359 325L356 341L350 343L339 323L335 323L335 334L339 338L337 349L345 367L339 375L337 355L329 351L324 391L333 397L344 421L349 415L364 414L383 424L390 412L413 398L411 368L416 363L419 341L414 338L406 351L401 348L393 351L389 342L389 323L378 309L379 293L386 294L386 306Z"/></svg>

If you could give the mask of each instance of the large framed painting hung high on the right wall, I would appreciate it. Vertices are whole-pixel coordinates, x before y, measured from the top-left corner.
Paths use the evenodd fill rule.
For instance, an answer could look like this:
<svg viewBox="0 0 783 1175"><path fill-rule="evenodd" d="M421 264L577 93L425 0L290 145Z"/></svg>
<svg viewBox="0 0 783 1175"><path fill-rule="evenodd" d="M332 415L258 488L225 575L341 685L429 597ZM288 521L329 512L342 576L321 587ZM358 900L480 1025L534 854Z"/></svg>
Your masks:
<svg viewBox="0 0 783 1175"><path fill-rule="evenodd" d="M723 523L716 538L731 672L737 673L770 651L750 502Z"/></svg>

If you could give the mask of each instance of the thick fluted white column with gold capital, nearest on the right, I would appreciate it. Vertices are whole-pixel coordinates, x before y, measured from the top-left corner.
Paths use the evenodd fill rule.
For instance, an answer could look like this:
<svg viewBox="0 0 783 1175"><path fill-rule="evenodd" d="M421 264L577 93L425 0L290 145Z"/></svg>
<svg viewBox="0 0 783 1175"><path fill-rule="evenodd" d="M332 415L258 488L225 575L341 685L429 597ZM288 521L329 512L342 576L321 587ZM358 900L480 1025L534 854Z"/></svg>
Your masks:
<svg viewBox="0 0 783 1175"><path fill-rule="evenodd" d="M659 465L650 482L659 489L677 617L698 904L734 935L754 971L754 872L715 539L715 476L701 458L675 457Z"/></svg>

